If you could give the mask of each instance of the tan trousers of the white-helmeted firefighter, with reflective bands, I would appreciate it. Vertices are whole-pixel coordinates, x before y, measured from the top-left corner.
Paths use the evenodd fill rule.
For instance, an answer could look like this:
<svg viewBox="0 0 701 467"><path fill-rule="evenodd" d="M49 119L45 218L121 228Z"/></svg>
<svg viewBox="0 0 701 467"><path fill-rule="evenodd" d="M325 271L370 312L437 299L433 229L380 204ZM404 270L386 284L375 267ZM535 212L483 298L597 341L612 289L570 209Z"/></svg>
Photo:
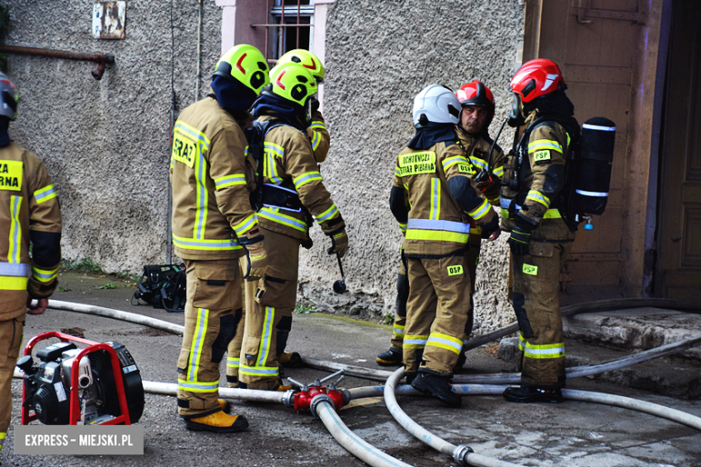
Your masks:
<svg viewBox="0 0 701 467"><path fill-rule="evenodd" d="M470 310L466 256L407 258L409 300L404 330L407 374L453 374Z"/></svg>

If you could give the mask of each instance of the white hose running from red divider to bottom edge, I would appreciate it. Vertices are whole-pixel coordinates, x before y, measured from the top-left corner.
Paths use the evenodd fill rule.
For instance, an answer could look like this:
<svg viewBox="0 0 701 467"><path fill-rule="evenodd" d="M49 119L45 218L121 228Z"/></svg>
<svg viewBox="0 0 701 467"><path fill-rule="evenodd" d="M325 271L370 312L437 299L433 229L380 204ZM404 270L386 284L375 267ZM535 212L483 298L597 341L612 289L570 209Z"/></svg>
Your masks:
<svg viewBox="0 0 701 467"><path fill-rule="evenodd" d="M321 419L331 436L342 445L346 451L358 457L364 463L373 467L412 467L377 447L369 445L364 439L357 436L333 410L333 404L329 401L321 401L316 405L316 416Z"/></svg>

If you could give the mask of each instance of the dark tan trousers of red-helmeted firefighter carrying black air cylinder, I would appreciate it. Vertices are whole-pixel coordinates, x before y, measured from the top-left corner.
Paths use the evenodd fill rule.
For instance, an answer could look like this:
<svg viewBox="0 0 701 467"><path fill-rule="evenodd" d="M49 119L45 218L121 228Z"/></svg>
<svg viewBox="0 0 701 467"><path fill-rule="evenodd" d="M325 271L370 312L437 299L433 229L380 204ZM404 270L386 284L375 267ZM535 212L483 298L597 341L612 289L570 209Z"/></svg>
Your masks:
<svg viewBox="0 0 701 467"><path fill-rule="evenodd" d="M572 242L530 242L530 254L512 256L511 301L519 322L521 384L540 389L564 387L563 318L560 270Z"/></svg>

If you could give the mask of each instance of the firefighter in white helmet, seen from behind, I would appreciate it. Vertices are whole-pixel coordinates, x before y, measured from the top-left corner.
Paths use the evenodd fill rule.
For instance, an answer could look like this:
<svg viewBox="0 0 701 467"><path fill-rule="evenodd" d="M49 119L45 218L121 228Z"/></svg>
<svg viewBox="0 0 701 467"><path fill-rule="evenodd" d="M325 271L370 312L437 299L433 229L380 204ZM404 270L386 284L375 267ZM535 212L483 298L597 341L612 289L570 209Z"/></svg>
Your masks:
<svg viewBox="0 0 701 467"><path fill-rule="evenodd" d="M390 195L392 213L406 225L407 379L451 407L461 404L450 379L470 309L470 219L492 240L500 233L496 213L472 179L474 164L457 144L460 109L456 95L438 84L414 98L416 135L397 156Z"/></svg>

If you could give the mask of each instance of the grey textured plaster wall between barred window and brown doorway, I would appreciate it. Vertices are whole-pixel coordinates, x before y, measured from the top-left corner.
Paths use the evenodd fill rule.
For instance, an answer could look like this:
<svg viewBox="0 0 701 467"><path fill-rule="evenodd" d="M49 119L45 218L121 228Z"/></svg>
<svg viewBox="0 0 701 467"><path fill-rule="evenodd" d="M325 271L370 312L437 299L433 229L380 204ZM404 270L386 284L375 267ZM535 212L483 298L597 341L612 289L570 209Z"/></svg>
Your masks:
<svg viewBox="0 0 701 467"><path fill-rule="evenodd" d="M324 254L329 242L318 227L315 248L301 260L301 293L328 311L379 317L394 312L402 237L388 199L396 154L413 137L413 96L428 84L456 90L480 79L497 101L494 136L510 107L524 6L518 0L338 0L330 6L324 117L332 141L322 173L349 225L344 268L351 293L333 295L339 273ZM504 131L502 146L510 146L512 134ZM475 328L511 322L505 238L483 247L477 274Z"/></svg>

